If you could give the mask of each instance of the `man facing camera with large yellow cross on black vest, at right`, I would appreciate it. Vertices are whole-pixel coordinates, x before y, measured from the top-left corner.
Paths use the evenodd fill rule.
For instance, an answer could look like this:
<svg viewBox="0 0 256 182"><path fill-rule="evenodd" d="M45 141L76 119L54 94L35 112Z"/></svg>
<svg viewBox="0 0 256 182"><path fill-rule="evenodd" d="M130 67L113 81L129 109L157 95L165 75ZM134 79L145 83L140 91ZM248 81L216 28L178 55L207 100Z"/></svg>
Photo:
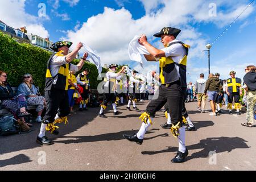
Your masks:
<svg viewBox="0 0 256 182"><path fill-rule="evenodd" d="M241 104L239 102L240 96L242 95L242 86L241 86L241 79L236 77L236 72L231 71L229 73L231 78L228 78L226 80L226 94L228 95L228 109L229 109L229 114L232 113L232 104L233 104L233 98L235 102L235 109L237 110L237 115L241 115L240 109L241 109Z"/></svg>

